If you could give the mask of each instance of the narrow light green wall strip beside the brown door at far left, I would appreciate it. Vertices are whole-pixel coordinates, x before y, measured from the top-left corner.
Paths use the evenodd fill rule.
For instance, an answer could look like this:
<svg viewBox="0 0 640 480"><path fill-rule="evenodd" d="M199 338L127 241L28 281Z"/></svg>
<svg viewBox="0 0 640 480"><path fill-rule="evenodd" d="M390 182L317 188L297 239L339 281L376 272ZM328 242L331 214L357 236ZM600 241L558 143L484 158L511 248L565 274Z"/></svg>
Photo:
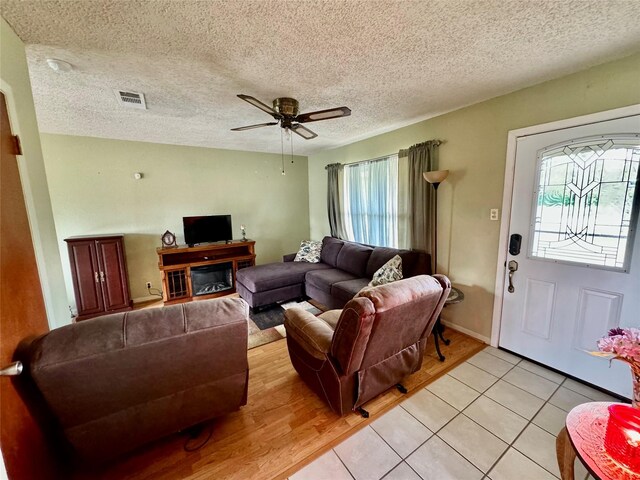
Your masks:
<svg viewBox="0 0 640 480"><path fill-rule="evenodd" d="M19 135L22 142L24 155L18 157L18 167L49 326L54 328L70 321L67 295L24 43L3 18L0 18L0 90L7 98L13 133Z"/></svg>

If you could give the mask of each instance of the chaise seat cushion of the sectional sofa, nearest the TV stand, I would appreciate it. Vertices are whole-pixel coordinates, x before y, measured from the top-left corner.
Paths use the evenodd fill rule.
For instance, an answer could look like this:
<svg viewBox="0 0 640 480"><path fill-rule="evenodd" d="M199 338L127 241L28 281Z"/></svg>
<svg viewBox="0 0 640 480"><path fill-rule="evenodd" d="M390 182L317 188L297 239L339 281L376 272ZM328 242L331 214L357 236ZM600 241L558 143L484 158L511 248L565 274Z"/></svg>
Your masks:
<svg viewBox="0 0 640 480"><path fill-rule="evenodd" d="M304 276L307 272L329 268L331 267L324 263L268 263L238 270L236 281L252 292L264 292L287 285L304 283Z"/></svg>

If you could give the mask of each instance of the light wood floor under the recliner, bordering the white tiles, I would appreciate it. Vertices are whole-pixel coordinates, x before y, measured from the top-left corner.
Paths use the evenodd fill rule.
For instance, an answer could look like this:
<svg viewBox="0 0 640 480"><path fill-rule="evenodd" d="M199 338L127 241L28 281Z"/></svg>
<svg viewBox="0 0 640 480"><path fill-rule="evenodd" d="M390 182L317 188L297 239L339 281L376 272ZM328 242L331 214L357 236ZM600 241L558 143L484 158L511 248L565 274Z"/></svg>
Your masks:
<svg viewBox="0 0 640 480"><path fill-rule="evenodd" d="M212 422L213 436L196 452L185 452L184 435L173 435L122 459L101 472L78 479L274 479L286 478L407 396L460 364L484 345L447 329L447 360L438 361L433 341L420 371L396 389L365 405L369 419L334 414L300 380L289 361L286 340L249 350L249 399L239 411ZM433 338L433 337L432 337ZM135 425L132 425L135 428Z"/></svg>

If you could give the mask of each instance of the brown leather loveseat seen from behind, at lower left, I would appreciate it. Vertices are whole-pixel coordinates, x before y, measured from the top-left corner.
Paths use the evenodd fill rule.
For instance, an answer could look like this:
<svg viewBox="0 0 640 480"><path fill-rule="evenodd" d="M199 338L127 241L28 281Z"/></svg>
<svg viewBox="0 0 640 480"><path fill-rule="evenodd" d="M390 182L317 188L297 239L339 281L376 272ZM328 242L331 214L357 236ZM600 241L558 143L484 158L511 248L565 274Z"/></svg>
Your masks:
<svg viewBox="0 0 640 480"><path fill-rule="evenodd" d="M248 311L216 299L107 315L21 357L75 452L105 460L247 403Z"/></svg>

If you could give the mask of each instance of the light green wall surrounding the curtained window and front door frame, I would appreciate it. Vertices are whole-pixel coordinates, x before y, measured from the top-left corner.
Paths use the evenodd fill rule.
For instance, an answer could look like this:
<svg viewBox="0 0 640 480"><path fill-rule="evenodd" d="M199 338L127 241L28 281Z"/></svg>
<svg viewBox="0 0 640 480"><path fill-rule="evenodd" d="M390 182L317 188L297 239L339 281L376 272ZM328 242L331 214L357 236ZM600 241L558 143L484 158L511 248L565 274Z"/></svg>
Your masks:
<svg viewBox="0 0 640 480"><path fill-rule="evenodd" d="M535 68L535 65L532 65ZM311 237L328 234L325 165L444 140L440 168L451 170L439 192L438 270L466 295L443 316L484 338L491 335L509 130L640 103L640 55L494 98L405 128L309 157ZM357 119L354 110L352 118Z"/></svg>

